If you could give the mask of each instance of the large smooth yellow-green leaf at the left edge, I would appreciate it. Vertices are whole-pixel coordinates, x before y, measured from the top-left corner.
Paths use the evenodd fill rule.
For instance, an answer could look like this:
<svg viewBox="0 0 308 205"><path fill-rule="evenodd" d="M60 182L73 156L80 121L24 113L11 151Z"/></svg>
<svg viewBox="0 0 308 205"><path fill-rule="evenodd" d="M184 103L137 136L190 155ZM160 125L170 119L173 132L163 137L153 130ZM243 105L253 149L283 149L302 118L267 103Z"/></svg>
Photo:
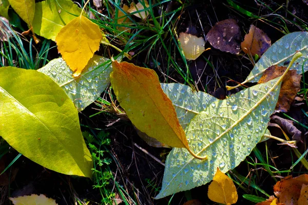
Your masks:
<svg viewBox="0 0 308 205"><path fill-rule="evenodd" d="M49 77L36 70L0 68L0 107L0 136L15 150L50 170L92 176L78 112Z"/></svg>

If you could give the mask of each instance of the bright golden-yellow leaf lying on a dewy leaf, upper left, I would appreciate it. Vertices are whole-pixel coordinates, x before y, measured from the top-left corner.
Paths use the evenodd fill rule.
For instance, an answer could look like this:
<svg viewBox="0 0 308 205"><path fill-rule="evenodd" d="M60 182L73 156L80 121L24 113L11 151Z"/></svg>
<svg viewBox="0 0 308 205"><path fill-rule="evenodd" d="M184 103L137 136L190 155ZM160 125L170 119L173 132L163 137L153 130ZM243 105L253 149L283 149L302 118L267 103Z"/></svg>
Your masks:
<svg viewBox="0 0 308 205"><path fill-rule="evenodd" d="M75 17L57 34L55 41L59 53L78 77L94 52L100 47L103 35L98 25L85 16Z"/></svg>

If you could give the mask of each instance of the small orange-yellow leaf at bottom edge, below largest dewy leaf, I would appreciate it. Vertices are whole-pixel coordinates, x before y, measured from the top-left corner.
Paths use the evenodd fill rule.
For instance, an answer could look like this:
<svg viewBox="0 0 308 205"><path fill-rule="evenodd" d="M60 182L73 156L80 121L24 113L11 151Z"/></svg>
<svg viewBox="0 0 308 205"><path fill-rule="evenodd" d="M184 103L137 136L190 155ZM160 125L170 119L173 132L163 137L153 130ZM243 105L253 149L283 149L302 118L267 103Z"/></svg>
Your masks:
<svg viewBox="0 0 308 205"><path fill-rule="evenodd" d="M208 186L207 196L210 200L223 204L233 204L238 199L233 181L223 174L219 168L217 168L213 181Z"/></svg>

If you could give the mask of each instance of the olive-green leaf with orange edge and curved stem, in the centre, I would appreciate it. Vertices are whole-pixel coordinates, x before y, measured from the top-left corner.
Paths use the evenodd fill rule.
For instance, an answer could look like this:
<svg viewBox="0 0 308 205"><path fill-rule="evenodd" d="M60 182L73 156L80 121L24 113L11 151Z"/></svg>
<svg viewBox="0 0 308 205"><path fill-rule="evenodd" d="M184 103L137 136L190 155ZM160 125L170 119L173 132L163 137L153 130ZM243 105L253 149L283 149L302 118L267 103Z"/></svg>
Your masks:
<svg viewBox="0 0 308 205"><path fill-rule="evenodd" d="M154 70L131 63L112 62L110 80L114 94L131 122L143 133L173 147L191 152L171 100Z"/></svg>

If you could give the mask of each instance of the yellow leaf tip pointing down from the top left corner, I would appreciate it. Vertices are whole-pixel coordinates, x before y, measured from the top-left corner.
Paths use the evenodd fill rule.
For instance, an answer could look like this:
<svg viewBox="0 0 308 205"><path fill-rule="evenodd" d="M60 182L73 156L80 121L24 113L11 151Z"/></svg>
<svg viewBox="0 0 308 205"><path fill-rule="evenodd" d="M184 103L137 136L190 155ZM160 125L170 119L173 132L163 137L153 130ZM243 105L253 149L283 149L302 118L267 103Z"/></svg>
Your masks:
<svg viewBox="0 0 308 205"><path fill-rule="evenodd" d="M24 20L29 28L32 27L32 21L35 11L35 0L9 0L10 5L16 13Z"/></svg>

